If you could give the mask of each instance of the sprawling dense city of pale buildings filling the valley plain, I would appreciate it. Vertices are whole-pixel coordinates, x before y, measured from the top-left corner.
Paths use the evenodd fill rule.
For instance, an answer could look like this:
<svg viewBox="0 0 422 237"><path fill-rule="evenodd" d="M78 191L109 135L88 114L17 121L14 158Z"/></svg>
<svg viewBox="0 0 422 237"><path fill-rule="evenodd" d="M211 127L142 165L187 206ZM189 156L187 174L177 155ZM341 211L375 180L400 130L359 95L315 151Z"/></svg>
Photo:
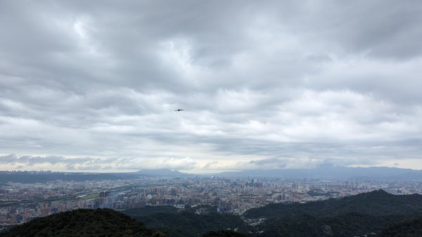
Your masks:
<svg viewBox="0 0 422 237"><path fill-rule="evenodd" d="M394 194L422 193L422 183L416 181L139 177L36 184L9 182L0 186L0 224L19 224L79 208L123 210L146 205L179 208L213 205L219 212L243 214L269 203L324 200L379 188Z"/></svg>

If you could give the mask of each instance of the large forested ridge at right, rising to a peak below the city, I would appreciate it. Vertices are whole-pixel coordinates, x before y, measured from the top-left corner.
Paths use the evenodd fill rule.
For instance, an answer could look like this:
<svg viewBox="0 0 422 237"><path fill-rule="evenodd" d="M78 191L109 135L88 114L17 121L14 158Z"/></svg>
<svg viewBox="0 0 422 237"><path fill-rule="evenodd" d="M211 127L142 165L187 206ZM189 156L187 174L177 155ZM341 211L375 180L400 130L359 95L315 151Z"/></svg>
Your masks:
<svg viewBox="0 0 422 237"><path fill-rule="evenodd" d="M394 196L385 191L362 193L314 203L269 205L250 210L248 217L266 217L255 236L363 236L381 233L422 210L422 196Z"/></svg>

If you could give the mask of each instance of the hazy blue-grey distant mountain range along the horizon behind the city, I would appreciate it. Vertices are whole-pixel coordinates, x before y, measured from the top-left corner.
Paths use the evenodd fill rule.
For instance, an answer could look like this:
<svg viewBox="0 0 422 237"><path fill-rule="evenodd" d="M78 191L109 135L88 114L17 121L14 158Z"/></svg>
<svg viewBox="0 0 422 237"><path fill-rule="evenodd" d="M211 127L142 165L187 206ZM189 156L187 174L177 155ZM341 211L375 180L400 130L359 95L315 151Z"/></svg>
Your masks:
<svg viewBox="0 0 422 237"><path fill-rule="evenodd" d="M249 169L214 174L187 174L170 169L142 169L129 173L79 172L0 172L0 183L8 181L34 183L43 181L87 181L99 179L134 179L138 177L274 177L285 179L385 179L422 180L422 170L392 167L342 167L323 165L312 169Z"/></svg>

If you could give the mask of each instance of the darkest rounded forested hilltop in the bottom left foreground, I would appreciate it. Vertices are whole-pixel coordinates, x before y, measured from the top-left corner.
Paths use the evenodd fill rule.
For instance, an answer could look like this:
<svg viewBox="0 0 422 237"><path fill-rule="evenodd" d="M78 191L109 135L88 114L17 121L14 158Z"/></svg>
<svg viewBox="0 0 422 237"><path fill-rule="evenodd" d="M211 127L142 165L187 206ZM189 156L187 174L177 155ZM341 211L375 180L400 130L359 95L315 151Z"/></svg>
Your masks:
<svg viewBox="0 0 422 237"><path fill-rule="evenodd" d="M110 209L74 210L34 219L3 233L4 237L150 237L154 231Z"/></svg>

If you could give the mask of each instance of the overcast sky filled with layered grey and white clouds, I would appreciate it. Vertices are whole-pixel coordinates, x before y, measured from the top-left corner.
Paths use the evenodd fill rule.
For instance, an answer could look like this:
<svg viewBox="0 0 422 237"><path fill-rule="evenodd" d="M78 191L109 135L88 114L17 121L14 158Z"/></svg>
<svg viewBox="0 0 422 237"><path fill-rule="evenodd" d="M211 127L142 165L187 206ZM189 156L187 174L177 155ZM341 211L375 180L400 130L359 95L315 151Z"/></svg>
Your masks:
<svg viewBox="0 0 422 237"><path fill-rule="evenodd" d="M0 169L422 169L421 23L417 0L2 0Z"/></svg>

